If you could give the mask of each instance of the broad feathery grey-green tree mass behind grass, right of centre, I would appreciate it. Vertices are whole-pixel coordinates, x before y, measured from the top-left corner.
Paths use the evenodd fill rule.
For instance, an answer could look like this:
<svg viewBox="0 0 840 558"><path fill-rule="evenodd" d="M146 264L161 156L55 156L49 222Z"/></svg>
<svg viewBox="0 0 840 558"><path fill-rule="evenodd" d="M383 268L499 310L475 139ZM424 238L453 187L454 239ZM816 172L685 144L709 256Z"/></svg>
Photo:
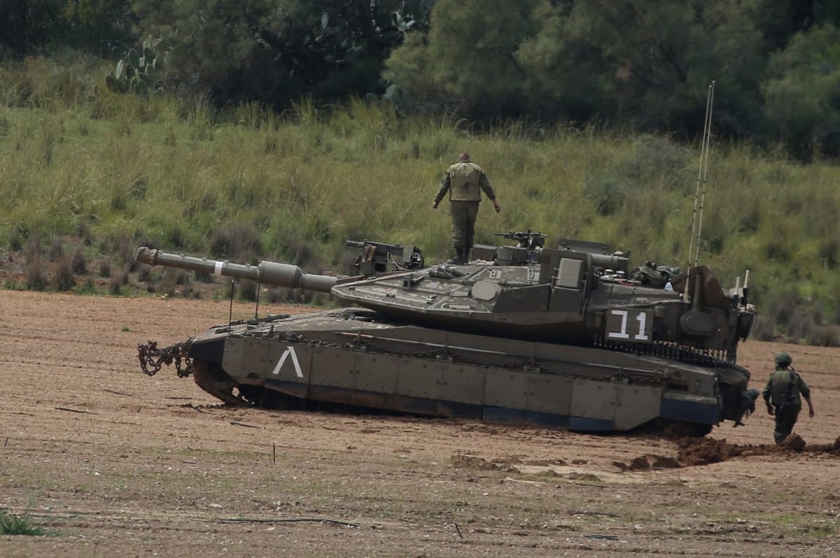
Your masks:
<svg viewBox="0 0 840 558"><path fill-rule="evenodd" d="M743 133L761 117L766 50L754 14L769 0L438 0L430 29L396 49L387 79L466 116L538 116Z"/></svg>

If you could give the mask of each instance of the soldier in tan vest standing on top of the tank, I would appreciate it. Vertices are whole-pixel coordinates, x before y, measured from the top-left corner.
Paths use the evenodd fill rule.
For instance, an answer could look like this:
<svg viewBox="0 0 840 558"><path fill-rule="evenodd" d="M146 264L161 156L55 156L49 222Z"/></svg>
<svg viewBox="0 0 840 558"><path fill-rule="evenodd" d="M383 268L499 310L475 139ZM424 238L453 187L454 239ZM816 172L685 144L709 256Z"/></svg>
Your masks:
<svg viewBox="0 0 840 558"><path fill-rule="evenodd" d="M452 243L455 257L446 263L467 263L470 248L475 237L475 217L478 216L478 206L481 202L481 191L493 202L496 213L501 211L496 201L496 194L487 180L487 175L481 167L470 161L470 154L458 155L458 162L446 169L444 180L441 182L438 195L434 196L433 209L449 191L449 211L452 214Z"/></svg>

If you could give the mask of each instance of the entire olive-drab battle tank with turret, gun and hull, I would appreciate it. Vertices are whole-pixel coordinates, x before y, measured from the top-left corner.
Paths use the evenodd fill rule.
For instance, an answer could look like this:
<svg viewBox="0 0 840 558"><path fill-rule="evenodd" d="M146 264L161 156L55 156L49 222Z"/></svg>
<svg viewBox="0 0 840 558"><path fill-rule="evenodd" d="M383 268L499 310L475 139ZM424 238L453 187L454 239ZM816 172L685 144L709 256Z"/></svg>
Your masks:
<svg viewBox="0 0 840 558"><path fill-rule="evenodd" d="M738 342L755 312L706 267L630 269L600 242L508 232L465 264L426 265L416 247L351 242L359 274L307 274L139 248L137 261L329 293L349 307L213 326L139 346L228 404L382 409L577 431L642 425L706 435L754 409ZM676 430L674 428L676 427Z"/></svg>

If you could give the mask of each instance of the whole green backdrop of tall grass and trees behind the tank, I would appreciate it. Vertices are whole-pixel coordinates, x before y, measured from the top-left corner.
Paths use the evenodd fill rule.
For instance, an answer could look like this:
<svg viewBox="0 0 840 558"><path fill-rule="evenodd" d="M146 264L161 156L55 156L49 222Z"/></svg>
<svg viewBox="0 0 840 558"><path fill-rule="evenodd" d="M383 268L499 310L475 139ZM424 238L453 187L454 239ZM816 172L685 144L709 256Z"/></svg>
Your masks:
<svg viewBox="0 0 840 558"><path fill-rule="evenodd" d="M138 268L140 244L335 273L346 239L445 258L430 202L468 150L502 205L477 242L532 228L685 267L701 203L701 263L751 270L759 336L836 344L837 24L819 0L5 0L6 284L95 292L95 263L113 293L200 292Z"/></svg>

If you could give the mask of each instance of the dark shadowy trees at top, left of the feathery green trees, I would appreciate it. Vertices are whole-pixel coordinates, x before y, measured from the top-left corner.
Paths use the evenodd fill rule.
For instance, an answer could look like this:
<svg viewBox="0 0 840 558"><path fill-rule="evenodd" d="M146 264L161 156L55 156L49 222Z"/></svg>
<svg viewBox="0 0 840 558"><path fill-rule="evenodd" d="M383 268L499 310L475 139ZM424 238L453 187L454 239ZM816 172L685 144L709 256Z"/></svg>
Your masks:
<svg viewBox="0 0 840 558"><path fill-rule="evenodd" d="M133 0L181 80L222 103L381 91L381 63L429 0ZM425 7L425 8L424 8Z"/></svg>

